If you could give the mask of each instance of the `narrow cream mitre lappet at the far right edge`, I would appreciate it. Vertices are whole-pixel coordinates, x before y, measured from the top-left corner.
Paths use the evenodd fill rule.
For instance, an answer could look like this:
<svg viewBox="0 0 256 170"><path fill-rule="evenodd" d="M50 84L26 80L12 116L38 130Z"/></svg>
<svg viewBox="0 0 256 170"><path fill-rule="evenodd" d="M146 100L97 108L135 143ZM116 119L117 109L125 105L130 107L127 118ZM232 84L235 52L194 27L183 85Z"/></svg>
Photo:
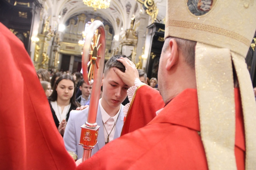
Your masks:
<svg viewBox="0 0 256 170"><path fill-rule="evenodd" d="M244 131L245 131L245 169L255 169L256 167L256 103L253 95L252 81L247 70L244 57L231 52L232 61L236 69L239 82Z"/></svg>

